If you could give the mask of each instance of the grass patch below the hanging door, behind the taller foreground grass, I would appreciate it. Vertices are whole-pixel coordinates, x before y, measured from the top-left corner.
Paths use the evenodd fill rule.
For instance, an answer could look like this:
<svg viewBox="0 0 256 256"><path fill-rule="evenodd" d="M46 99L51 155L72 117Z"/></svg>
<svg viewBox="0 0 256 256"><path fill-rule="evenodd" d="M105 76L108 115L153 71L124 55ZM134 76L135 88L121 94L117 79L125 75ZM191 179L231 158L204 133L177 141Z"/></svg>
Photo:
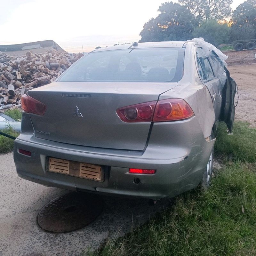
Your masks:
<svg viewBox="0 0 256 256"><path fill-rule="evenodd" d="M249 163L256 162L256 129L246 122L235 122L233 135L228 135L227 126L220 123L215 143L215 153Z"/></svg>

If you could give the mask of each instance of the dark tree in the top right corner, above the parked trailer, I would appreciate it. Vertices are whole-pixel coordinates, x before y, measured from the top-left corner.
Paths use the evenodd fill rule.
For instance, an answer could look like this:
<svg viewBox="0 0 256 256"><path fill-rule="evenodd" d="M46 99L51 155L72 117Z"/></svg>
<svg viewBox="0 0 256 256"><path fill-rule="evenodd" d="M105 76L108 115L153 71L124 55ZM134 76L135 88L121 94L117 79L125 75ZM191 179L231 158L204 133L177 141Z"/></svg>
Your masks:
<svg viewBox="0 0 256 256"><path fill-rule="evenodd" d="M233 13L233 24L256 26L256 0L248 0L238 5Z"/></svg>

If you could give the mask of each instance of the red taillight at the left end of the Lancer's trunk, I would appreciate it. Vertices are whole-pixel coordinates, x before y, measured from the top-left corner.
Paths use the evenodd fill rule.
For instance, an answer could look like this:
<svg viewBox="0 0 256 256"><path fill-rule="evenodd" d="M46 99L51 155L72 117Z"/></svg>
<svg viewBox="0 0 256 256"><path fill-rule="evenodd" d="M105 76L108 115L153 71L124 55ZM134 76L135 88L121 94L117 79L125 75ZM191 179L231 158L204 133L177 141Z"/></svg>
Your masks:
<svg viewBox="0 0 256 256"><path fill-rule="evenodd" d="M21 108L28 113L43 116L46 110L46 105L24 94L21 97Z"/></svg>

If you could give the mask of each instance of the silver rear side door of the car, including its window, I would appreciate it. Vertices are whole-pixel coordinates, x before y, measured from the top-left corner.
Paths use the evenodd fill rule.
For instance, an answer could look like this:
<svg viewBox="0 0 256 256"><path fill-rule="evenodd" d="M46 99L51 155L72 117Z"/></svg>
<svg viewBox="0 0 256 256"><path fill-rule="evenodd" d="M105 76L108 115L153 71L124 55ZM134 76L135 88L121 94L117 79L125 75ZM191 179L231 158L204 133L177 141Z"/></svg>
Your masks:
<svg viewBox="0 0 256 256"><path fill-rule="evenodd" d="M196 49L197 68L202 82L207 86L212 97L215 120L220 119L222 93L220 93L220 80L215 76L208 57L205 56L201 47Z"/></svg>

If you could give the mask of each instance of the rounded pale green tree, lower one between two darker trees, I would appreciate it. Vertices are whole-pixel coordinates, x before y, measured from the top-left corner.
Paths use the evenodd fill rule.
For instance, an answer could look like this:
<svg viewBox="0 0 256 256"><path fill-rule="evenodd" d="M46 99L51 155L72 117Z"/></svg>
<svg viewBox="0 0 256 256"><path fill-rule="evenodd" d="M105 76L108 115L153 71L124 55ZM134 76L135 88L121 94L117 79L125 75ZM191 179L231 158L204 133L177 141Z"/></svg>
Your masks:
<svg viewBox="0 0 256 256"><path fill-rule="evenodd" d="M217 20L206 20L195 28L192 35L194 37L203 37L204 40L214 46L228 43L228 24L220 24Z"/></svg>

